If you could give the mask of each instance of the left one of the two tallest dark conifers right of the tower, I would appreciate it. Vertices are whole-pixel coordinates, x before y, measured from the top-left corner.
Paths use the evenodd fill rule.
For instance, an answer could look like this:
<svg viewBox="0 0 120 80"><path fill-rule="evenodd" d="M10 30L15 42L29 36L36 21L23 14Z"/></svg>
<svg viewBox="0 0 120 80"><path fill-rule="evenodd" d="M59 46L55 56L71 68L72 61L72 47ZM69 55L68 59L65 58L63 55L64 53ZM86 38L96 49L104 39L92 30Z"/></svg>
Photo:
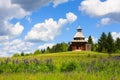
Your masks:
<svg viewBox="0 0 120 80"><path fill-rule="evenodd" d="M98 51L107 52L107 35L104 32L98 40Z"/></svg>

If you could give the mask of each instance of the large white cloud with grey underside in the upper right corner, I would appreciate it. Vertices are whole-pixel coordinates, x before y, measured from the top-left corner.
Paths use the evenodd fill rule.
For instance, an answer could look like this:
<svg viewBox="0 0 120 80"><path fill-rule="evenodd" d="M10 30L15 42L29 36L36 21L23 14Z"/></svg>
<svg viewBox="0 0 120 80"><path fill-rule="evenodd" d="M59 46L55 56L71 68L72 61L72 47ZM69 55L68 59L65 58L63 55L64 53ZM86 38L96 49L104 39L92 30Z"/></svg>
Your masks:
<svg viewBox="0 0 120 80"><path fill-rule="evenodd" d="M79 10L93 17L108 17L120 23L120 0L84 0Z"/></svg>

